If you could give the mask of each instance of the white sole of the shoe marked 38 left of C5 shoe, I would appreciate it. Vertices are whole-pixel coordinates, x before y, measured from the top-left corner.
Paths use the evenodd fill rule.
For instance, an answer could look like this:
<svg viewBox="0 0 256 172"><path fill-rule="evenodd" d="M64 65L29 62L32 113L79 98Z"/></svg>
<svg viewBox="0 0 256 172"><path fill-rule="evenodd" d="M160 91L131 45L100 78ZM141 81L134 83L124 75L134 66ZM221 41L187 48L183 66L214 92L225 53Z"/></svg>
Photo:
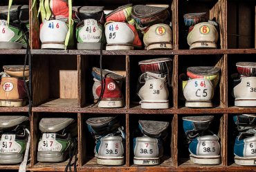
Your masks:
<svg viewBox="0 0 256 172"><path fill-rule="evenodd" d="M168 109L169 100L142 100L141 108L143 109Z"/></svg>

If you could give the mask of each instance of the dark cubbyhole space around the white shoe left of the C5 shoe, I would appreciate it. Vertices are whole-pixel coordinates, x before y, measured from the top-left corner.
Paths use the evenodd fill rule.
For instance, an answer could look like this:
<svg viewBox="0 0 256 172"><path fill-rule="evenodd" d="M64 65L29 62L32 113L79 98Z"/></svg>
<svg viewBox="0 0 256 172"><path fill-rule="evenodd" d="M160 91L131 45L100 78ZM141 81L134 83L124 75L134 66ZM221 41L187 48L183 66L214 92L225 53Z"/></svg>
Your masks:
<svg viewBox="0 0 256 172"><path fill-rule="evenodd" d="M139 83L139 78L141 74L143 74L140 70L140 66L138 63L140 61L155 59L155 58L172 58L171 61L171 79L174 77L174 70L173 70L173 59L174 56L130 56L130 71L129 71L129 77L130 77L130 83L129 83L129 100L130 100L130 107L131 108L141 108L140 107L140 97L138 96L138 92L140 90L140 87L143 86L143 84ZM171 81L172 82L172 81ZM173 107L174 100L173 100L173 90L174 87L170 87L167 84L167 89L169 92L168 100L169 100L169 107Z"/></svg>

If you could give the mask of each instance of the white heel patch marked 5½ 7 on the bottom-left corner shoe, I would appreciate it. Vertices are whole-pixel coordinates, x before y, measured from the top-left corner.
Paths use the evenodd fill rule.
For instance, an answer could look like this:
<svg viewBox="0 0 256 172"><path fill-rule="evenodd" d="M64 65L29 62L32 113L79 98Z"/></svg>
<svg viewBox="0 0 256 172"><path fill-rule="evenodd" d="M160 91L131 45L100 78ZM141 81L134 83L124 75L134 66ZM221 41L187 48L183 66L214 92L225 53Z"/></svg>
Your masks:
<svg viewBox="0 0 256 172"><path fill-rule="evenodd" d="M0 141L0 153L20 152L21 145L15 142L15 134L3 134Z"/></svg>

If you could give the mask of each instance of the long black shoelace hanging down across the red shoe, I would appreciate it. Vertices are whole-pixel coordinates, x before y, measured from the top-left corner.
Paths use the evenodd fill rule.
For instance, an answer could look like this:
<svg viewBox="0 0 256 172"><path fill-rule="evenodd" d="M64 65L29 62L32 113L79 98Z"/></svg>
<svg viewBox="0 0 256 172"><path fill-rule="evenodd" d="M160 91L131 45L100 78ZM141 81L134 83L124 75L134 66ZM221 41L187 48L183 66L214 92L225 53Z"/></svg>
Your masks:
<svg viewBox="0 0 256 172"><path fill-rule="evenodd" d="M104 89L105 89L105 80L103 79L103 74L102 74L102 56L103 56L103 37L104 37L104 26L102 25L102 32L101 32L101 41L100 41L100 96L98 100L91 105L91 107L97 105L100 100L103 97L104 94Z"/></svg>

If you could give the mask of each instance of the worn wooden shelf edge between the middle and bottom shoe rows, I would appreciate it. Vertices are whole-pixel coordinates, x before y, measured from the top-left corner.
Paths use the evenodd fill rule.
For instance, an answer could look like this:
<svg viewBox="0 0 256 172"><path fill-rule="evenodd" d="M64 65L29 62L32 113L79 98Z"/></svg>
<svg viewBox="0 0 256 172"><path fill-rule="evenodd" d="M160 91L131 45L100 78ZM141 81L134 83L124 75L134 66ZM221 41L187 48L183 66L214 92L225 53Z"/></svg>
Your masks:
<svg viewBox="0 0 256 172"><path fill-rule="evenodd" d="M105 109L98 107L33 107L33 112L56 112L56 113L71 113L71 114L253 114L256 107L227 107L227 108L212 108L212 109L141 109L132 107L127 109L125 107L120 109ZM12 112L28 112L28 107L0 107L0 113Z"/></svg>

